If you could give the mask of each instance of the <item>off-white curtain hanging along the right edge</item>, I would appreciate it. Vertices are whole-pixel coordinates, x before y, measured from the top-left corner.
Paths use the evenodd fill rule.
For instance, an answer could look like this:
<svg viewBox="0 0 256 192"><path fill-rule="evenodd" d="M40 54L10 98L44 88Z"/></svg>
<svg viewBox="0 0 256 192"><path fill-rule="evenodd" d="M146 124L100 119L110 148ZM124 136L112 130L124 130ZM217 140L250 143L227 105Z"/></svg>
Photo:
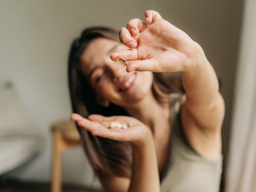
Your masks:
<svg viewBox="0 0 256 192"><path fill-rule="evenodd" d="M225 192L256 191L256 1L246 0Z"/></svg>

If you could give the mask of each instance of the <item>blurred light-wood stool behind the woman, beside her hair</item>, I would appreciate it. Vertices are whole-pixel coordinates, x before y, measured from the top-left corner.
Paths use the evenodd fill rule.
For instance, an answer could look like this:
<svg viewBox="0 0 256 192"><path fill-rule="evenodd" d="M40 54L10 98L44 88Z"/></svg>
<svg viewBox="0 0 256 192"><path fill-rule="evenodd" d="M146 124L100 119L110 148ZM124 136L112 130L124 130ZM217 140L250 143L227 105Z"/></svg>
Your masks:
<svg viewBox="0 0 256 192"><path fill-rule="evenodd" d="M61 152L80 145L80 135L76 124L70 120L64 120L52 124L53 133L53 159L52 159L52 192L61 191Z"/></svg>

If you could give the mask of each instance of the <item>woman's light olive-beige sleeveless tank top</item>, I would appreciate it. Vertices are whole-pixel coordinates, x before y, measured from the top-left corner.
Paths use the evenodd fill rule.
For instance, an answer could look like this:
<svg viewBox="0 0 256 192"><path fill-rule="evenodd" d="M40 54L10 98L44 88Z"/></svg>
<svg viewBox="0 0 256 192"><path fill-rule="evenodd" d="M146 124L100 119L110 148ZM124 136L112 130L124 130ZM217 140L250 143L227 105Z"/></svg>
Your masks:
<svg viewBox="0 0 256 192"><path fill-rule="evenodd" d="M161 192L218 192L222 158L204 157L188 143L180 120L184 99L179 97L171 106L171 153L161 180Z"/></svg>

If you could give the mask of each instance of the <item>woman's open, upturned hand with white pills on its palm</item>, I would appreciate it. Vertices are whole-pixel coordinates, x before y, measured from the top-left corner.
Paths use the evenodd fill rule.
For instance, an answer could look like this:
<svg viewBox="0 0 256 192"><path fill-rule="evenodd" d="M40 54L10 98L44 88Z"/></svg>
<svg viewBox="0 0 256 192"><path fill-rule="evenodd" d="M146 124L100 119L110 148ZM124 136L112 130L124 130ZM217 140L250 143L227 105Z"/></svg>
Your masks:
<svg viewBox="0 0 256 192"><path fill-rule="evenodd" d="M130 141L135 145L143 145L152 137L150 129L145 124L129 116L104 117L101 115L90 115L86 119L74 113L70 118L79 126L91 132L92 135L112 140ZM130 127L127 129L111 128L110 122L128 122Z"/></svg>

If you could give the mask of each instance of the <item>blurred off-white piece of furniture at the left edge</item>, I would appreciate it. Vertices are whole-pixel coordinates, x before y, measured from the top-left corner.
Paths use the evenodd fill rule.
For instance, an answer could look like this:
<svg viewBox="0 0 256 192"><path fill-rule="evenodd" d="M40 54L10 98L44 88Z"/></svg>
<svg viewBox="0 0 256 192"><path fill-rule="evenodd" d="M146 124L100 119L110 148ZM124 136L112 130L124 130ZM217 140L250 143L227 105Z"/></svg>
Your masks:
<svg viewBox="0 0 256 192"><path fill-rule="evenodd" d="M12 84L0 86L0 175L30 160L40 145Z"/></svg>

